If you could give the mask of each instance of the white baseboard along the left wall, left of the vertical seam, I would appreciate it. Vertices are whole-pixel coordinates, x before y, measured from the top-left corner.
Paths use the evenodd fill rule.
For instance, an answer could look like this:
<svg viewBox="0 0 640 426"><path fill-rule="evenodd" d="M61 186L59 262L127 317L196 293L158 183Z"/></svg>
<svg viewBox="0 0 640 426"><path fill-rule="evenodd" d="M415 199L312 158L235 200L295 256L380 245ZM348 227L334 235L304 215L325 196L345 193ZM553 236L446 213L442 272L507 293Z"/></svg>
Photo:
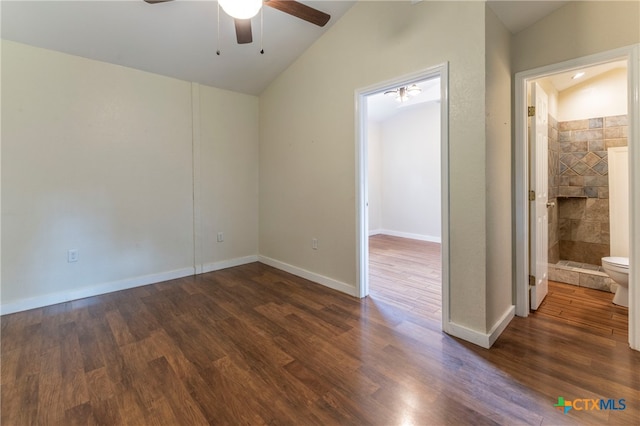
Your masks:
<svg viewBox="0 0 640 426"><path fill-rule="evenodd" d="M174 269L173 271L161 272L158 274L143 275L140 277L126 278L108 283L96 284L80 289L61 291L57 293L45 294L37 297L21 299L0 306L0 314L13 314L15 312L29 309L42 308L43 306L55 305L57 303L69 302L71 300L84 299L86 297L100 296L101 294L112 293L114 291L127 290L162 281L174 280L188 277L194 274L194 268Z"/></svg>

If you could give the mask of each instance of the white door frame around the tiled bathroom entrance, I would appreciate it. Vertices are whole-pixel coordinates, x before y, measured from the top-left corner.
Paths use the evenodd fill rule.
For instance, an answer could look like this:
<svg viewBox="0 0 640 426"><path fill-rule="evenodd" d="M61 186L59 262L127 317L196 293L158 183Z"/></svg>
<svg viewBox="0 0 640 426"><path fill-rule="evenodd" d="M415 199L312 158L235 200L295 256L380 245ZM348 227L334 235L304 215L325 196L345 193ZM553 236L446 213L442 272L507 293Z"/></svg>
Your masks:
<svg viewBox="0 0 640 426"><path fill-rule="evenodd" d="M515 76L515 296L516 315L529 314L529 156L527 150L527 84L560 72L605 62L628 64L629 164L640 164L640 44L613 49L516 73ZM640 350L640 168L629 169L629 344Z"/></svg>

